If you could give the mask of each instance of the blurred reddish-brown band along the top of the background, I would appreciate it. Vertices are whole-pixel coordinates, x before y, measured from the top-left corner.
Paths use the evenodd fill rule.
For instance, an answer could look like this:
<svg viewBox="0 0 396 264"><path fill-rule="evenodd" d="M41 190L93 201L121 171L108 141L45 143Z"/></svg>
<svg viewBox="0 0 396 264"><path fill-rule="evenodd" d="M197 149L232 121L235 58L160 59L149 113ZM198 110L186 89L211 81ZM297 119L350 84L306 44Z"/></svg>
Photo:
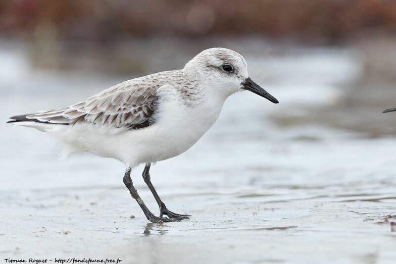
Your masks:
<svg viewBox="0 0 396 264"><path fill-rule="evenodd" d="M95 41L257 34L334 43L396 32L395 0L1 0L4 37Z"/></svg>

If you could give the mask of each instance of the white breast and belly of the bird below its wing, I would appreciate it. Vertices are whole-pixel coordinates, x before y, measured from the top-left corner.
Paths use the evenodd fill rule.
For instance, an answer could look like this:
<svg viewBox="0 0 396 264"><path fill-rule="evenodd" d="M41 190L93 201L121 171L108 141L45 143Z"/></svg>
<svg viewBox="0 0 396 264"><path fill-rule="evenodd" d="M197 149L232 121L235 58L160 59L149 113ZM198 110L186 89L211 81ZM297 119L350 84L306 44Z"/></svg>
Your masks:
<svg viewBox="0 0 396 264"><path fill-rule="evenodd" d="M164 102L158 120L146 128L109 133L99 127L76 127L64 138L72 152L116 158L134 167L187 151L213 125L223 103L186 106L178 101Z"/></svg>

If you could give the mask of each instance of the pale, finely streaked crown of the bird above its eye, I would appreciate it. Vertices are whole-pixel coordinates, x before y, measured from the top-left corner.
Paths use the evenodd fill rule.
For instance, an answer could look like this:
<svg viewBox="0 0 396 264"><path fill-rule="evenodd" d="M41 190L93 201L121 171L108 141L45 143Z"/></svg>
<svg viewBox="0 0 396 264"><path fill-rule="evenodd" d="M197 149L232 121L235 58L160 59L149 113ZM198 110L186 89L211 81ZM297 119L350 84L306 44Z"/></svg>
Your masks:
<svg viewBox="0 0 396 264"><path fill-rule="evenodd" d="M198 53L188 64L203 63L207 65L221 66L225 63L231 64L234 67L246 68L247 63L245 58L232 50L225 48L211 48Z"/></svg>

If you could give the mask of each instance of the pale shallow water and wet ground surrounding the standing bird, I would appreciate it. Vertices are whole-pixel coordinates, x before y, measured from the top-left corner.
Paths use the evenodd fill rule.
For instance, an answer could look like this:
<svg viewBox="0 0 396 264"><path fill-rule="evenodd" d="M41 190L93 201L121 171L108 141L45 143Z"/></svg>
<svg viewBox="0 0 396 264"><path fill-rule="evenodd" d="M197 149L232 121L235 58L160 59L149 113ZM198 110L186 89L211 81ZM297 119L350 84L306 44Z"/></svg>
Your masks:
<svg viewBox="0 0 396 264"><path fill-rule="evenodd" d="M2 75L0 120L70 105L128 78L33 71L23 54L6 54L8 65L24 70ZM249 69L266 72L252 70L252 79L281 104L234 95L191 150L151 169L167 207L192 214L190 220L149 223L122 183L120 162L91 155L61 162L54 139L1 123L1 257L393 263L395 139L367 138L332 123L276 122L347 95L340 84L361 70L354 52L316 49L246 58ZM142 170L133 171L133 180L157 212Z"/></svg>

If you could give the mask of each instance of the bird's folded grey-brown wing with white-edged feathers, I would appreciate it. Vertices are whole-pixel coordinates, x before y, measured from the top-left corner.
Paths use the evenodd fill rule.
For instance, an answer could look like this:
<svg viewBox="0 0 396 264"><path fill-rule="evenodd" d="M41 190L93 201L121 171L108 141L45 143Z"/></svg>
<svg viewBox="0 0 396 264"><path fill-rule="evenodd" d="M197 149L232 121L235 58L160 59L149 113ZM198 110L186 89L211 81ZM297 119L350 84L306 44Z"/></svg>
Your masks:
<svg viewBox="0 0 396 264"><path fill-rule="evenodd" d="M158 87L156 84L141 86L132 80L126 81L72 106L15 117L53 124L92 123L138 129L154 122Z"/></svg>

